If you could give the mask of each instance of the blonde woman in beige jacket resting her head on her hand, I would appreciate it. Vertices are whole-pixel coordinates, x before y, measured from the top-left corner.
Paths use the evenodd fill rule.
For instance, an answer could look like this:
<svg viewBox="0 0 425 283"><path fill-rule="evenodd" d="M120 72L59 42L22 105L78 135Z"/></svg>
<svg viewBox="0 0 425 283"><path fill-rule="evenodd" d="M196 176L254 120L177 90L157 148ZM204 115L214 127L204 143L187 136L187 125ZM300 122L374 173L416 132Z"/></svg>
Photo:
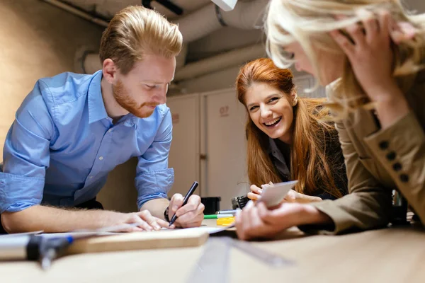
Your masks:
<svg viewBox="0 0 425 283"><path fill-rule="evenodd" d="M392 190L424 223L425 15L408 16L398 0L271 0L266 33L278 67L295 63L329 85L350 194L271 210L250 202L239 238L384 227Z"/></svg>

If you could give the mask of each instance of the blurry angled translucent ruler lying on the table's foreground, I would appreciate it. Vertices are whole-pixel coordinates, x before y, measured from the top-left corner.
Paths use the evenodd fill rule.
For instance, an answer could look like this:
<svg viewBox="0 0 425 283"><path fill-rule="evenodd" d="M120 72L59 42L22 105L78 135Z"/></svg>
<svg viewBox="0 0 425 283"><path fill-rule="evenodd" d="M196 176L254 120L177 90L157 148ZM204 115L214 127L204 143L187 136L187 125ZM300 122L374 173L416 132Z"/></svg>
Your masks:
<svg viewBox="0 0 425 283"><path fill-rule="evenodd" d="M293 261L287 260L269 253L266 250L257 248L245 241L237 241L229 237L210 237L205 245L203 254L200 256L198 262L191 270L188 277L188 283L212 283L229 282L228 267L229 267L229 254L232 248L242 250L242 252L251 255L260 262L271 267L285 267L293 265Z"/></svg>

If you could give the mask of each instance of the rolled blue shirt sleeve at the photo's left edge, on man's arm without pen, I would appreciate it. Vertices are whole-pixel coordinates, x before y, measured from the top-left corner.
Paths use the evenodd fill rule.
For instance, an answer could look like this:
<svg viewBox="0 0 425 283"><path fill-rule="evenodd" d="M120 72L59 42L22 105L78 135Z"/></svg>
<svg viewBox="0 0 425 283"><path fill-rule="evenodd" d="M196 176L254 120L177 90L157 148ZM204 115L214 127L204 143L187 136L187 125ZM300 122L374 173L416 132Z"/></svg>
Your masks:
<svg viewBox="0 0 425 283"><path fill-rule="evenodd" d="M55 136L55 124L43 92L48 95L47 86L38 81L16 112L6 136L0 172L0 213L19 212L41 203L50 140Z"/></svg>

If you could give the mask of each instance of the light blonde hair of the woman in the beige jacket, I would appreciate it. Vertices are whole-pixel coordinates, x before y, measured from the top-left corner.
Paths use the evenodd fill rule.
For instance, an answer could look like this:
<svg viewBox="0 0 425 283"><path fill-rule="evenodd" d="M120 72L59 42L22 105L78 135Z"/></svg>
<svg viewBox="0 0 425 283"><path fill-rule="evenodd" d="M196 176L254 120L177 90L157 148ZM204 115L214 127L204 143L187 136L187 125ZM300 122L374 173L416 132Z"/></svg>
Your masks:
<svg viewBox="0 0 425 283"><path fill-rule="evenodd" d="M327 52L344 54L329 31L361 22L364 14L361 11L377 13L382 9L389 11L395 21L412 23L419 30L411 40L392 45L393 74L397 76L399 87L406 92L412 86L417 71L424 68L425 14L409 15L400 0L271 0L265 21L268 55L278 67L288 68L294 61L285 56L283 48L291 42L299 42L315 73L321 74L313 45ZM341 15L346 17L336 19ZM333 87L336 96L329 107L339 117L358 107L373 107L347 58L341 79Z"/></svg>

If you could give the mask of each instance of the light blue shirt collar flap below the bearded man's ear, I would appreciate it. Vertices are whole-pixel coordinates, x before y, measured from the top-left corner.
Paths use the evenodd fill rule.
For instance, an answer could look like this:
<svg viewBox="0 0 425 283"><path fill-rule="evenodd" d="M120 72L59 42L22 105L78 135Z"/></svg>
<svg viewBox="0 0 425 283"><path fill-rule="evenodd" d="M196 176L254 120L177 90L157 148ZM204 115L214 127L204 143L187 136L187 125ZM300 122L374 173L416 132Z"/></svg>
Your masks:
<svg viewBox="0 0 425 283"><path fill-rule="evenodd" d="M101 91L102 70L96 71L92 76L88 91L89 124L108 118Z"/></svg>

